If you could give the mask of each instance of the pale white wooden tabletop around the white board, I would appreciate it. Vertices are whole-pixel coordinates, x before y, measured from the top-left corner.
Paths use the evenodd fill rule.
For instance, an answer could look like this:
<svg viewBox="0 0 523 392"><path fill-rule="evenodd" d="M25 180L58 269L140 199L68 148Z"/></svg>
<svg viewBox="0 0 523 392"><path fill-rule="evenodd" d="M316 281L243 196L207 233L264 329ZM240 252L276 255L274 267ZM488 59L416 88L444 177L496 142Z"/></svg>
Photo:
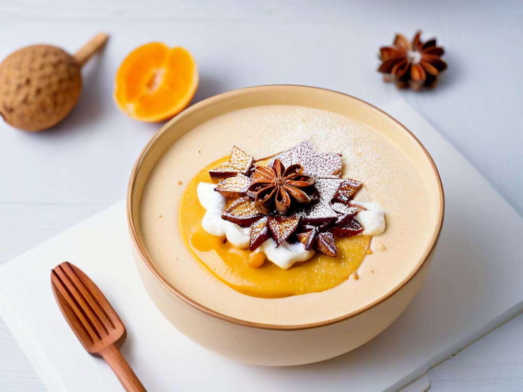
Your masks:
<svg viewBox="0 0 523 392"><path fill-rule="evenodd" d="M320 3L0 0L0 57L37 42L74 51L97 31L111 34L84 68L81 100L62 124L27 134L0 123L0 263L124 197L158 125L118 112L113 75L126 53L153 40L195 55L195 101L274 83L332 88L376 105L403 97L523 214L523 4ZM417 28L438 37L449 70L434 91L398 91L375 72L376 53L394 32ZM431 390L523 390L522 331L520 315L435 367ZM13 390L46 389L0 321L0 391Z"/></svg>

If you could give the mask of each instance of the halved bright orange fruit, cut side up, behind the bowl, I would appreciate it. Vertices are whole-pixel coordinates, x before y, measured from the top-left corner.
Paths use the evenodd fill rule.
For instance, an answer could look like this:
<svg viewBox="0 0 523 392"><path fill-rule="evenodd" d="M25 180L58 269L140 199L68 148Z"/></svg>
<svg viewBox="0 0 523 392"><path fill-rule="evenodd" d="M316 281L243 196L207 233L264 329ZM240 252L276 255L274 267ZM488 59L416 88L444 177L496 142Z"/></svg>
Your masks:
<svg viewBox="0 0 523 392"><path fill-rule="evenodd" d="M184 110L198 88L198 68L188 50L151 42L134 49L116 73L115 100L124 113L147 122Z"/></svg>

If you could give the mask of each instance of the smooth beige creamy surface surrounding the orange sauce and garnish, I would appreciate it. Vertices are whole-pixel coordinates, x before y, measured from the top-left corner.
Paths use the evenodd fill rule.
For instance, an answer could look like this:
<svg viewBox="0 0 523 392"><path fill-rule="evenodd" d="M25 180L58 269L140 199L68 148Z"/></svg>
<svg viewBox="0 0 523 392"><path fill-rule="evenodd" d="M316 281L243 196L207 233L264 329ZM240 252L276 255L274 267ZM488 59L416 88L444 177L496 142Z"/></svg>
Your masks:
<svg viewBox="0 0 523 392"><path fill-rule="evenodd" d="M184 243L178 224L181 197L201 168L230 154L232 145L266 157L305 139L319 152L343 154L342 177L363 182L355 200L376 202L385 211L385 232L373 237L373 252L357 275L332 289L282 298L237 292L202 268ZM169 146L143 188L139 225L158 270L196 302L253 322L307 324L351 313L399 284L432 235L431 200L411 160L368 125L325 110L259 106L214 117Z"/></svg>

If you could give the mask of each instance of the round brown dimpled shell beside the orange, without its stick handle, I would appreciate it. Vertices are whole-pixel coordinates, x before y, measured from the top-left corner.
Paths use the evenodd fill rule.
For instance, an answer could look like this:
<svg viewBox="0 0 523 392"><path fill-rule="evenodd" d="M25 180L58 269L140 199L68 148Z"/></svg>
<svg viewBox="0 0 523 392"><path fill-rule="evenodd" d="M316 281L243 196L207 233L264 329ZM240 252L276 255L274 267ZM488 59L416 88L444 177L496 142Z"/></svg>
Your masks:
<svg viewBox="0 0 523 392"><path fill-rule="evenodd" d="M32 45L0 64L0 114L18 129L36 132L59 123L81 90L80 66L60 48Z"/></svg>

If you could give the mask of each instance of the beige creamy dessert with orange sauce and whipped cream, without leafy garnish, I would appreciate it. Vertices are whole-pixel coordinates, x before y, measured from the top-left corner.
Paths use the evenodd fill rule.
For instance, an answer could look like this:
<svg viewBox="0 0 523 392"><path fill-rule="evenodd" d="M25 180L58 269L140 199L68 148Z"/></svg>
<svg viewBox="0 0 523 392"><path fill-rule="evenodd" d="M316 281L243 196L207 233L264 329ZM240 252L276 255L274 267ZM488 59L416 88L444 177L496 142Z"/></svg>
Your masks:
<svg viewBox="0 0 523 392"><path fill-rule="evenodd" d="M377 234L385 221L385 231L372 240L365 231L340 237L334 242L335 255L330 239L324 241L324 245L326 253L330 249L331 255L321 251L317 245L319 233L315 235L313 249L306 249L306 239L298 238L287 242L287 238L271 238L277 246L270 242L265 245L268 241L265 239L254 250L242 249L251 246L250 237L247 244L245 229L250 232L250 225L261 219L249 223L249 227L218 227L217 216L226 213L225 209L231 205L225 205L223 199L213 200L213 195L220 194L214 191L217 185L210 181L209 170L228 163L232 144L242 146L248 156L265 157L290 149L303 140L318 152L342 154L343 171L339 178L362 182L361 188L351 194L354 205L363 207L356 215L360 215L356 222L362 230L369 230L367 234ZM266 164L278 171L274 162ZM281 170L292 164L283 164ZM293 174L302 176L303 173ZM313 177L314 180L322 178ZM290 179L294 180L297 179ZM301 180L307 181L298 179ZM321 181L316 185L321 187ZM379 132L327 111L263 106L215 117L170 146L145 185L140 226L145 248L158 269L195 301L249 321L304 324L348 314L381 297L404 279L423 254L430 237L428 217L424 213L426 205L428 194L415 166ZM208 214L213 209L215 213ZM190 227L195 230L184 232ZM213 230L216 231L211 234ZM281 262L273 253L282 245L288 249L281 251L298 248L294 250L300 253L301 259ZM259 268L255 268L256 259L251 260L251 266L247 265L251 253L261 253L256 252L260 248L268 261ZM350 252L353 254L349 255ZM224 255L228 255L233 264L223 264ZM241 262L247 272L236 274L239 278L234 281L231 268ZM296 264L293 266L293 263ZM308 265L314 267L308 269ZM225 267L220 271L219 266ZM266 273L266 270L272 272ZM236 268L234 272L237 271ZM242 276L248 279L241 282ZM252 280L252 276L263 276L263 279ZM291 290L282 291L281 286L276 291L274 287L271 289L271 283L281 281L283 276L294 282L286 286ZM325 285L326 277L336 279ZM303 279L308 280L303 283ZM293 291L296 287L305 290Z"/></svg>

